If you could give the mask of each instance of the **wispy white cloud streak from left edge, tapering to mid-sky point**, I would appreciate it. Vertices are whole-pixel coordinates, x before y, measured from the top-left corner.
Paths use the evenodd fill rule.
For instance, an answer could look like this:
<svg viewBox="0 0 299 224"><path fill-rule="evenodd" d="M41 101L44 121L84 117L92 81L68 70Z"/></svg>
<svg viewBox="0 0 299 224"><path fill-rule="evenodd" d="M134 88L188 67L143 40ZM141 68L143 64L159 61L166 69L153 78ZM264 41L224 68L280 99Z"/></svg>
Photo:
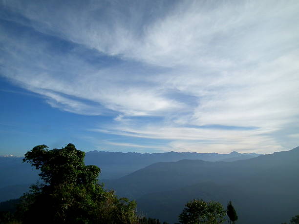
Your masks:
<svg viewBox="0 0 299 224"><path fill-rule="evenodd" d="M11 31L11 35L16 32ZM46 38L35 31L28 33ZM52 43L43 39L35 42L31 37L19 39L8 35L1 38L6 44L2 74L22 87L49 98L47 102L52 106L79 114L81 111L81 114L86 114L86 110L94 108L94 113L90 111L87 114L102 114L100 106L88 105L78 101L79 98L129 116L157 115L184 106L182 102L163 97L160 87L144 81L143 76L132 74L128 68L130 62L125 66L116 64L115 67L96 68L98 64L79 58L83 50L76 44L71 44L70 50L57 54L54 46L61 42L59 39L52 40ZM62 44L67 43L63 41ZM13 48L20 54L15 54ZM87 54L95 54L91 50L86 51ZM113 64L113 59L106 56L96 59L106 60L105 64L112 61Z"/></svg>

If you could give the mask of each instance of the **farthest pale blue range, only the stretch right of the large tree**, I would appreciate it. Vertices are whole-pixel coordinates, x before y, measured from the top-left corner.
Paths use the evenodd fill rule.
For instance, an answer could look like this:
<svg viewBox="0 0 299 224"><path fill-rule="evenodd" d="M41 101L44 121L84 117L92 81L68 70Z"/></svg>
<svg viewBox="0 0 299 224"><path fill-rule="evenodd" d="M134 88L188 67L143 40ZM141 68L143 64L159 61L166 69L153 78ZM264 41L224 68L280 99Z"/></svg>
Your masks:
<svg viewBox="0 0 299 224"><path fill-rule="evenodd" d="M144 168L152 163L176 162L179 160L204 160L219 161L229 159L231 161L257 157L256 153L229 154L218 153L195 153L195 152L166 152L166 153L135 153L135 152L105 152L90 151L85 155L85 163L97 165L101 168L101 179L116 179L128 175L138 169ZM240 158L239 158L240 157Z"/></svg>

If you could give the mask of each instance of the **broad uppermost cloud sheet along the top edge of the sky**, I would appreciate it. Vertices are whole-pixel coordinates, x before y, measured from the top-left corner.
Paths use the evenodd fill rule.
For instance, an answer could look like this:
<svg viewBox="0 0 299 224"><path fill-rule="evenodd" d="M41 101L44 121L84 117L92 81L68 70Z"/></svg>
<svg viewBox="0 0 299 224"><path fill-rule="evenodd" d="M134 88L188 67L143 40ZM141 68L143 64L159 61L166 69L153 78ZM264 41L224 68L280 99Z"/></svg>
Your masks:
<svg viewBox="0 0 299 224"><path fill-rule="evenodd" d="M6 7L41 32L160 66L197 65L219 71L269 57L269 50L275 57L297 45L296 0L56 4L12 0Z"/></svg>

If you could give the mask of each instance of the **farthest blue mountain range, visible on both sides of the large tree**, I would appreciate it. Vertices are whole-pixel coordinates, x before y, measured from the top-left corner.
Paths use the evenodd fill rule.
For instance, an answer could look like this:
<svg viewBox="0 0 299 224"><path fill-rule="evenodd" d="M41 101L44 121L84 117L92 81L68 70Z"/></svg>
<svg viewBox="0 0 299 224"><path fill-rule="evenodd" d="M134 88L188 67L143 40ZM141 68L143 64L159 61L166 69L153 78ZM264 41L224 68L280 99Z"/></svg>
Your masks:
<svg viewBox="0 0 299 224"><path fill-rule="evenodd" d="M116 179L128 175L138 169L144 168L152 163L173 162L182 159L202 159L217 161L221 159L238 158L244 155L237 152L230 154L217 153L191 153L191 152L166 152L166 153L122 153L90 151L85 154L85 163L94 164L101 168L100 179ZM256 154L255 156L258 156ZM39 171L33 169L31 164L22 163L22 157L2 156L0 157L0 202L17 198L27 191L30 184L39 179ZM22 192L22 189L24 190Z"/></svg>

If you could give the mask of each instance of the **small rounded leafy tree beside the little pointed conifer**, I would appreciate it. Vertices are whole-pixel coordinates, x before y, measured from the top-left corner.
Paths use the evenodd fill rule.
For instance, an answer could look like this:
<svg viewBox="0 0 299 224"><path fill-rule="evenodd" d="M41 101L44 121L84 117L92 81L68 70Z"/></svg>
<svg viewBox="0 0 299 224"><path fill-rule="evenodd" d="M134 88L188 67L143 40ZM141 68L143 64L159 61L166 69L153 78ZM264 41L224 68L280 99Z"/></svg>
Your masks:
<svg viewBox="0 0 299 224"><path fill-rule="evenodd" d="M179 215L182 224L217 224L225 221L225 211L218 202L205 202L193 200L188 202L183 212Z"/></svg>

